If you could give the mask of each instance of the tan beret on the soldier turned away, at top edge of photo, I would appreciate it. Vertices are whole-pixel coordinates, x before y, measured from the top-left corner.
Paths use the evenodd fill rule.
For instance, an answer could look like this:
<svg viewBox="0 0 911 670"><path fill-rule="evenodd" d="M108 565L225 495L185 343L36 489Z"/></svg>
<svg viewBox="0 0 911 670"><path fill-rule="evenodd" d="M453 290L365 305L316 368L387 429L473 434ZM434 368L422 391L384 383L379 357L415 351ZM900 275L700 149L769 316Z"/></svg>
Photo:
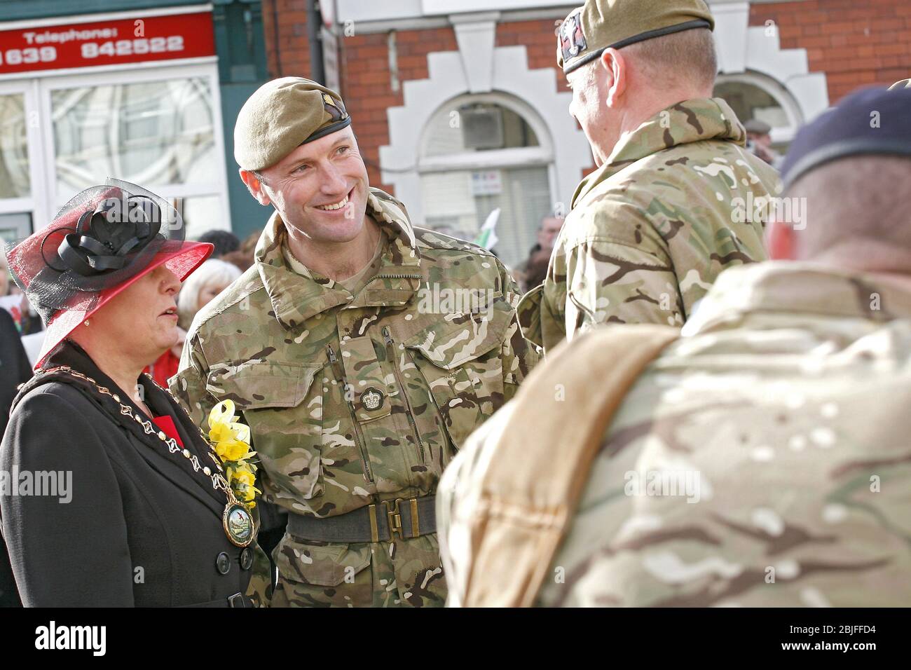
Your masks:
<svg viewBox="0 0 911 670"><path fill-rule="evenodd" d="M557 63L569 74L605 49L693 28L715 29L704 0L586 0L560 26Z"/></svg>

